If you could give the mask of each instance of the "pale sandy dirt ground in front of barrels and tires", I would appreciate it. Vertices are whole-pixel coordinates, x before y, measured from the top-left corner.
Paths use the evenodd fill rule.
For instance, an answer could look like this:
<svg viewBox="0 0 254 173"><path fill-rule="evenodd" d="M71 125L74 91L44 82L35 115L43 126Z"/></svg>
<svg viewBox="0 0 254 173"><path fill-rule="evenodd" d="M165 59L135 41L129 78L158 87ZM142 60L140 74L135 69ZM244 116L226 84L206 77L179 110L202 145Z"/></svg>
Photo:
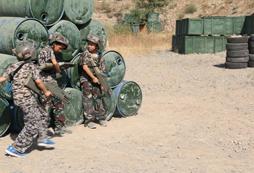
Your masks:
<svg viewBox="0 0 254 173"><path fill-rule="evenodd" d="M161 51L124 57L125 80L143 92L138 115L108 127L70 127L54 149L36 143L24 158L0 138L0 172L254 172L254 69L225 69L225 52Z"/></svg>

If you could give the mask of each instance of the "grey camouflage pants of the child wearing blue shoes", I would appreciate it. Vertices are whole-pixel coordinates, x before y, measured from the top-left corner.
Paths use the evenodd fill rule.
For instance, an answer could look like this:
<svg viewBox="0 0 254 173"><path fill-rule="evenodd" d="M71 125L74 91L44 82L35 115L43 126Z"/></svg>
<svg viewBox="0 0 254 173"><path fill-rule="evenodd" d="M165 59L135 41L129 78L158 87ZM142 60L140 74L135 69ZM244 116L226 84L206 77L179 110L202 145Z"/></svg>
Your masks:
<svg viewBox="0 0 254 173"><path fill-rule="evenodd" d="M48 115L43 107L37 102L27 105L19 105L24 114L24 128L12 144L12 147L20 153L24 153L32 144L34 138L39 134L38 142L47 140Z"/></svg>

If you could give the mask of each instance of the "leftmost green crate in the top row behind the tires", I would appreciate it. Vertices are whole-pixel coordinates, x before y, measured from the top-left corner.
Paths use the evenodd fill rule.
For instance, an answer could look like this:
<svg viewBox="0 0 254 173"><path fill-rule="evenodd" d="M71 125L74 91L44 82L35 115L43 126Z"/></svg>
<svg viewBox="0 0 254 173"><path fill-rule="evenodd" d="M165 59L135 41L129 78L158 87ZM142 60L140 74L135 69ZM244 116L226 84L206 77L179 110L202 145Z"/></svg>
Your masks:
<svg viewBox="0 0 254 173"><path fill-rule="evenodd" d="M182 19L182 35L203 35L203 19Z"/></svg>

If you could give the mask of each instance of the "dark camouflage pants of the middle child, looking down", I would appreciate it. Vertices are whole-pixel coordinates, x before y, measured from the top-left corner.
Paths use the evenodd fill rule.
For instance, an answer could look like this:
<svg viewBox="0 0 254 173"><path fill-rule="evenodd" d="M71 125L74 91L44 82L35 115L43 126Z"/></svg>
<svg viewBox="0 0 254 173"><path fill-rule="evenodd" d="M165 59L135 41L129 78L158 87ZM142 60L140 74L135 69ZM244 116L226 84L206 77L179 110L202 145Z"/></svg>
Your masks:
<svg viewBox="0 0 254 173"><path fill-rule="evenodd" d="M65 124L65 115L64 115L64 104L62 101L57 99L55 96L49 97L47 99L39 98L40 103L46 109L48 115L50 116L50 112L53 109L53 118L54 125L56 127L63 127ZM50 122L48 122L50 123ZM49 125L49 124L48 124Z"/></svg>

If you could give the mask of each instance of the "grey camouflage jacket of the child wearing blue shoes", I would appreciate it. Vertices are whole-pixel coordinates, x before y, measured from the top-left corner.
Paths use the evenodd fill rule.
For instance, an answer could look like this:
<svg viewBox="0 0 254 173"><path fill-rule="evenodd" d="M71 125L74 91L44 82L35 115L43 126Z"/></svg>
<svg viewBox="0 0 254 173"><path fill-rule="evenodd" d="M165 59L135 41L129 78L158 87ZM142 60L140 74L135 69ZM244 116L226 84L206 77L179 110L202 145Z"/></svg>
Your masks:
<svg viewBox="0 0 254 173"><path fill-rule="evenodd" d="M5 77L8 82L11 82L10 73L15 71L23 62L24 61L19 61L10 65L3 73L3 77ZM32 101L36 101L34 93L24 86L24 83L29 73L32 74L33 80L40 79L40 70L33 63L24 64L22 68L13 77L12 93L14 103L17 106L20 106L22 103L24 104L25 102L31 102L31 97L33 98Z"/></svg>

